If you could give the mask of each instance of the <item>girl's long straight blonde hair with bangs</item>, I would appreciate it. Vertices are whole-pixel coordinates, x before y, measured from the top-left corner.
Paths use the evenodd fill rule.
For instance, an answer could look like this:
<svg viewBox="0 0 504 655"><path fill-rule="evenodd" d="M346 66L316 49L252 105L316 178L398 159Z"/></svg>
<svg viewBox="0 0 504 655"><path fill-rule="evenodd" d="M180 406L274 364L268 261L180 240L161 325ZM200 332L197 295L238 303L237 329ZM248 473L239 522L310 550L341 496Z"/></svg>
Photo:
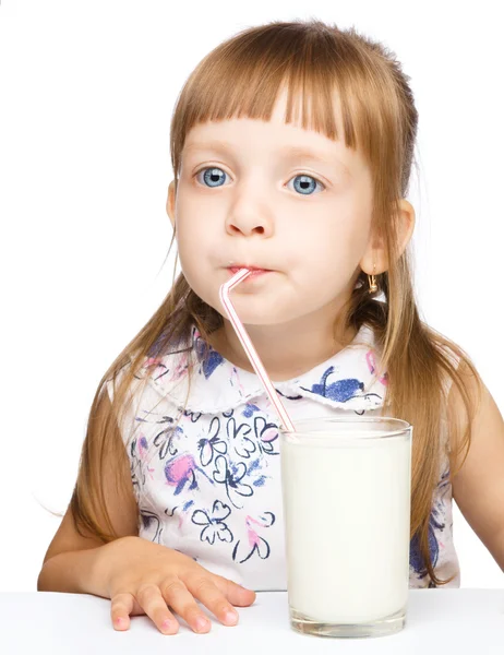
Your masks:
<svg viewBox="0 0 504 655"><path fill-rule="evenodd" d="M361 271L358 282L362 284L356 284L340 314L343 332L350 326L359 330L364 323L373 329L382 352L380 368L386 370L388 378L383 414L413 426L411 538L418 539L425 574L435 585L442 585L453 577L436 577L429 549L430 515L443 446L441 426L448 386L454 384L468 420L464 434L456 432L461 430L458 421L448 424L452 441L459 446L449 453L453 464L459 451L469 449L475 413L457 360L478 381L479 377L460 347L421 321L410 254L408 250L398 253L398 202L408 191L418 126L408 81L394 53L359 35L353 27L339 29L317 20L275 21L250 27L212 50L187 80L171 119L170 147L177 191L181 152L193 126L241 116L269 120L278 91L286 85L286 122L291 122L293 99L301 97L303 127L332 140L344 139L347 147L362 153L372 175L372 227L384 239L389 267L377 276L379 291L374 294L369 293L367 275ZM335 121L334 91L343 116L340 134ZM307 99L312 100L310 115ZM175 234L168 253L173 239ZM385 297L383 302L376 300L380 293ZM104 541L117 537L100 483L104 473L112 473L103 471L104 452L112 449L118 455L115 461L123 456L120 451L124 451L124 443L117 437L113 421L121 424L128 389L145 359L184 342L189 352L193 324L206 340L221 326L223 318L196 296L181 273L159 309L101 378L91 407L70 503L77 529L85 528ZM111 407L99 412L106 381L115 379L121 369L124 376ZM191 362L189 369L191 372ZM451 479L456 473L451 466Z"/></svg>

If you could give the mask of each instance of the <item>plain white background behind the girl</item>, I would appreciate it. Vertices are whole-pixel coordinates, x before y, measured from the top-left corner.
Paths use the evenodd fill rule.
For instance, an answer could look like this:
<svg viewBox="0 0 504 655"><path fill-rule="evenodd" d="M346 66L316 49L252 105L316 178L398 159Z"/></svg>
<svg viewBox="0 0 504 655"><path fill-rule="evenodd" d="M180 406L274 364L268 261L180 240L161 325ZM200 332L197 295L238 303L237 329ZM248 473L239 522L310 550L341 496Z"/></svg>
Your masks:
<svg viewBox="0 0 504 655"><path fill-rule="evenodd" d="M420 114L422 317L473 358L501 412L503 83L499 2L3 0L0 5L0 591L34 591L106 368L172 281L169 122L197 62L243 27L319 17L397 53ZM175 250L173 250L175 252ZM461 586L504 587L454 505Z"/></svg>

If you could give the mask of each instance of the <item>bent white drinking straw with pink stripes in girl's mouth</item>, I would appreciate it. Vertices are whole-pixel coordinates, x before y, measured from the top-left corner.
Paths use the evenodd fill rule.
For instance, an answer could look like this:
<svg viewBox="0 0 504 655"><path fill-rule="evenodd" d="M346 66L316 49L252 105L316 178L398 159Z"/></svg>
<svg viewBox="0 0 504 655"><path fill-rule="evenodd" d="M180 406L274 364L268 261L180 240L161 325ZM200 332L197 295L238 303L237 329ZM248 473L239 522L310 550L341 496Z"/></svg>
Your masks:
<svg viewBox="0 0 504 655"><path fill-rule="evenodd" d="M272 401L273 405L275 406L278 413L278 416L280 417L281 424L287 430L295 432L293 424L290 420L289 415L285 410L285 407L281 404L281 401L278 397L278 394L275 388L273 386L272 381L269 380L266 369L264 368L263 362L261 361L257 352L255 350L252 342L250 341L250 336L248 335L243 323L238 318L235 307L232 306L231 299L229 298L229 291L233 289L238 284L240 284L240 282L242 282L250 274L251 271L249 271L249 269L240 269L240 271L238 271L238 273L233 275L231 279L225 282L219 289L220 301L223 302L226 311L228 312L229 320L231 321L232 326L235 327L235 332L237 333L237 336L240 340L241 345L243 346L247 356L249 357L250 362L254 367L254 370L257 373L263 386L266 389L269 400Z"/></svg>

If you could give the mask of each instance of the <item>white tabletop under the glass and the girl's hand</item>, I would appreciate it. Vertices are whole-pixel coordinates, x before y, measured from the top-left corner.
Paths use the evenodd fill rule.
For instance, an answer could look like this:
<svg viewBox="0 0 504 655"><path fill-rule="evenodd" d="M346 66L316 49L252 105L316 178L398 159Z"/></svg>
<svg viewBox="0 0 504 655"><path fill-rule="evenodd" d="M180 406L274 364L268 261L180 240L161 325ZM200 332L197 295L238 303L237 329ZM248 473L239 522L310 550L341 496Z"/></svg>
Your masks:
<svg viewBox="0 0 504 655"><path fill-rule="evenodd" d="M285 592L260 592L253 605L238 611L238 626L213 619L206 634L196 634L180 621L178 634L164 635L146 616L132 617L130 629L117 632L108 599L51 592L0 593L0 654L504 654L504 590L410 590L405 628L391 636L365 639L295 632Z"/></svg>

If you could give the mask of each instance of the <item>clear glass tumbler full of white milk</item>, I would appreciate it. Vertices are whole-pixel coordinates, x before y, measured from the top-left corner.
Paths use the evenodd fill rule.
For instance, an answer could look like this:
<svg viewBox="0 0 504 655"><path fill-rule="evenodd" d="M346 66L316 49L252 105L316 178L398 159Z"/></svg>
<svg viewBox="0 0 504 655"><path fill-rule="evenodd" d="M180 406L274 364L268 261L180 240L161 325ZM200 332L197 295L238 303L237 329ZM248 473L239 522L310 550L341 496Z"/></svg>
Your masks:
<svg viewBox="0 0 504 655"><path fill-rule="evenodd" d="M280 430L287 590L295 630L401 630L409 588L411 434L405 420L320 417Z"/></svg>

